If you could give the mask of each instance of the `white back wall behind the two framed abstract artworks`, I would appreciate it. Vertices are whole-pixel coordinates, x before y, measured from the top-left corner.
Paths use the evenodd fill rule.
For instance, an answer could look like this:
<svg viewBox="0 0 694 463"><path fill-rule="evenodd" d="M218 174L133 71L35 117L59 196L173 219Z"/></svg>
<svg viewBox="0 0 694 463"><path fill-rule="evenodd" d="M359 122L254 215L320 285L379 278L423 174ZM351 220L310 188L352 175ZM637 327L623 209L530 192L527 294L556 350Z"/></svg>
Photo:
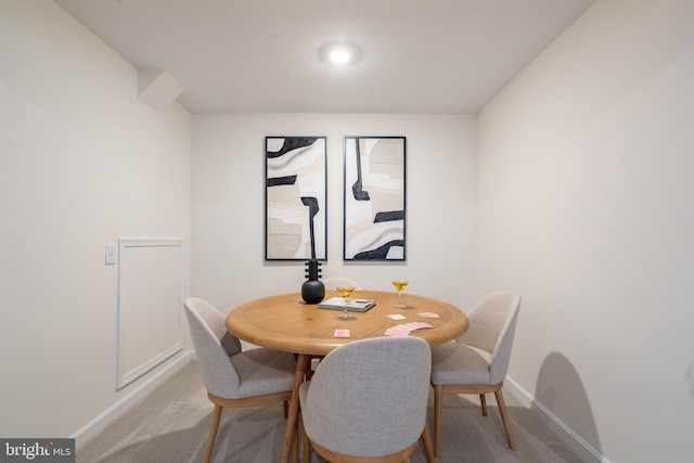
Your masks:
<svg viewBox="0 0 694 463"><path fill-rule="evenodd" d="M476 121L464 115L193 115L192 294L221 310L298 292L304 262L264 261L265 137L327 137L327 262L363 287L476 300ZM407 137L407 262L344 262L343 137Z"/></svg>

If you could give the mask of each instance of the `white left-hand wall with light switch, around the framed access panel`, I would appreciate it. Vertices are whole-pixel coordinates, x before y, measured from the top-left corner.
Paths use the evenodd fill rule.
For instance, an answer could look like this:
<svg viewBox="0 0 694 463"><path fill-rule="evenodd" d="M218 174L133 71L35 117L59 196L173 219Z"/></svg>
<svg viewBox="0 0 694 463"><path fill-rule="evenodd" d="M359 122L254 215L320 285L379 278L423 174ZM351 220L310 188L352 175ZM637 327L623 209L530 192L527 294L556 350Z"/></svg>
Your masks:
<svg viewBox="0 0 694 463"><path fill-rule="evenodd" d="M0 2L0 436L67 437L116 393L118 236L190 237L191 118L52 1Z"/></svg>

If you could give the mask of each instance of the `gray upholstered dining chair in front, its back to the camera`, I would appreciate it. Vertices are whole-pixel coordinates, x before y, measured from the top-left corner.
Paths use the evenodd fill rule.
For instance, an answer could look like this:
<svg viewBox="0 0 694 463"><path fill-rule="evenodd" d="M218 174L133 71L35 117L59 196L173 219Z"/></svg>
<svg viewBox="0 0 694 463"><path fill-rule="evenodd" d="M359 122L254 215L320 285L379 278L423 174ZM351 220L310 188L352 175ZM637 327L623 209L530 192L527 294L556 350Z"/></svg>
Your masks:
<svg viewBox="0 0 694 463"><path fill-rule="evenodd" d="M304 461L313 448L332 463L409 461L426 425L432 353L417 337L374 337L335 348L301 384Z"/></svg>

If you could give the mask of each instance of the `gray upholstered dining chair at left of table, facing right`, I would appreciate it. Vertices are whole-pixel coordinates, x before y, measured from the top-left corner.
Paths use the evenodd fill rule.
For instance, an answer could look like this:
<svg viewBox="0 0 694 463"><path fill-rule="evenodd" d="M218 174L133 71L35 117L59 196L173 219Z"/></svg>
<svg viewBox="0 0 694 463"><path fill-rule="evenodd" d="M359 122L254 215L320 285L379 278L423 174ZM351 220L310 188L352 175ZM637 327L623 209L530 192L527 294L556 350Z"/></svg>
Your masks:
<svg viewBox="0 0 694 463"><path fill-rule="evenodd" d="M184 306L207 397L215 404L203 458L207 463L224 407L284 402L286 417L296 361L292 353L265 347L242 351L241 343L227 331L224 317L214 306L198 298L185 299Z"/></svg>

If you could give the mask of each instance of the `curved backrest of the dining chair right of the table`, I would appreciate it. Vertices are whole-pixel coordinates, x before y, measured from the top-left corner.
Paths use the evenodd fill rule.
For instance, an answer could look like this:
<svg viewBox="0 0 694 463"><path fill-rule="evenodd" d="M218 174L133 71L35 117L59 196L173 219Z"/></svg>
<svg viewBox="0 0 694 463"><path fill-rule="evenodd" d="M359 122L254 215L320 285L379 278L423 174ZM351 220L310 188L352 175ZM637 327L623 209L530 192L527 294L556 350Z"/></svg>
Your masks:
<svg viewBox="0 0 694 463"><path fill-rule="evenodd" d="M517 293L491 293L471 311L467 317L470 329L457 339L492 355L491 384L500 383L506 376L519 310L520 296Z"/></svg>

